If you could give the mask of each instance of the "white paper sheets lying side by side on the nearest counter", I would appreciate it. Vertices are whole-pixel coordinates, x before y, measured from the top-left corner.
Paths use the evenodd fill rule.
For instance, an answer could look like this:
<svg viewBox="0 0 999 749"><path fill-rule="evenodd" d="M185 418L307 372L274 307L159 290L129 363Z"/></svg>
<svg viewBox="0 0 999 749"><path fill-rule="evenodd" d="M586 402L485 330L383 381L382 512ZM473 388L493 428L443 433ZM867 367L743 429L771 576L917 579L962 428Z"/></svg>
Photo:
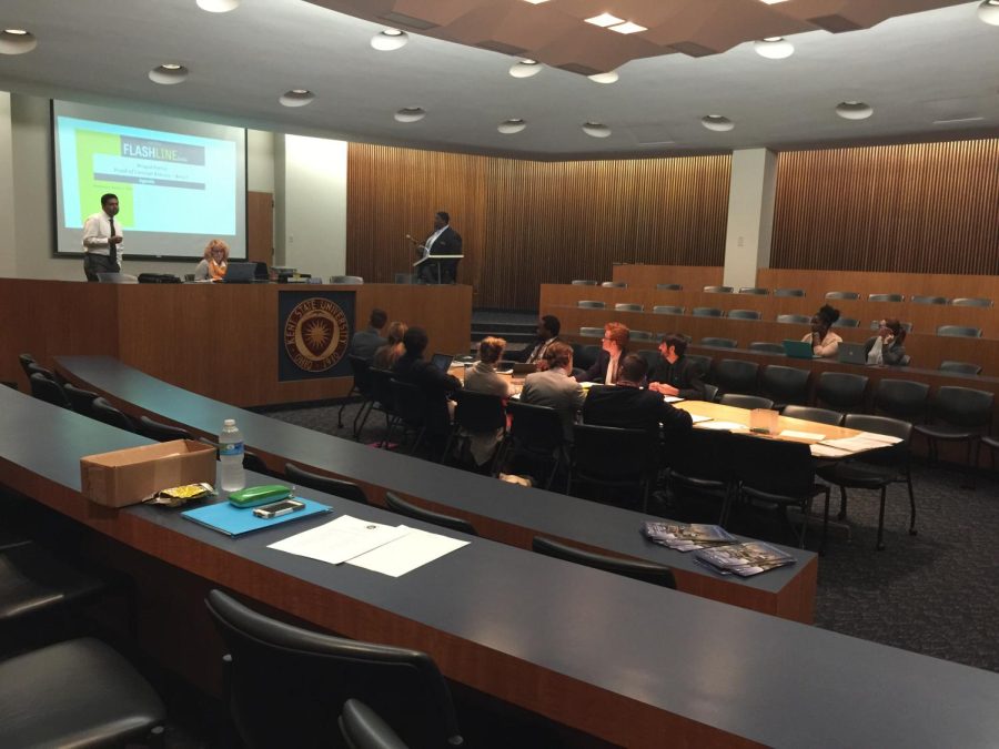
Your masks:
<svg viewBox="0 0 999 749"><path fill-rule="evenodd" d="M342 515L269 548L400 577L467 544L404 525L393 527Z"/></svg>

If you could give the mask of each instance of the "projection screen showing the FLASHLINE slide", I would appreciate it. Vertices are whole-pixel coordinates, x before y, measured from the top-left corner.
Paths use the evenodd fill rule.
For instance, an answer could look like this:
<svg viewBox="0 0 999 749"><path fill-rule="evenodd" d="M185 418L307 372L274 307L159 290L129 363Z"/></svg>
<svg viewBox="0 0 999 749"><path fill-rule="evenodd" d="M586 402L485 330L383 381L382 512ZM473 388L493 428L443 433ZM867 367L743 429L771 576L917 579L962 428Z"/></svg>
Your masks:
<svg viewBox="0 0 999 749"><path fill-rule="evenodd" d="M83 223L110 192L121 205L125 257L200 257L214 237L245 257L244 131L172 119L158 119L162 126L152 129L128 122L143 119L134 113L83 118L57 104L60 251L80 252Z"/></svg>

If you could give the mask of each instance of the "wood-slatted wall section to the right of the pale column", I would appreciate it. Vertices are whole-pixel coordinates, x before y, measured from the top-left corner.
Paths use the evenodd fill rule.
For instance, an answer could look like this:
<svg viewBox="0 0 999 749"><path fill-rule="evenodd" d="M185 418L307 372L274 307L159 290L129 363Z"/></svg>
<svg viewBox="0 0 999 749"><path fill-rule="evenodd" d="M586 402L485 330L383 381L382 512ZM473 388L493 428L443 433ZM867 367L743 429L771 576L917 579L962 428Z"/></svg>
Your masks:
<svg viewBox="0 0 999 749"><path fill-rule="evenodd" d="M770 266L999 273L999 140L781 153Z"/></svg>

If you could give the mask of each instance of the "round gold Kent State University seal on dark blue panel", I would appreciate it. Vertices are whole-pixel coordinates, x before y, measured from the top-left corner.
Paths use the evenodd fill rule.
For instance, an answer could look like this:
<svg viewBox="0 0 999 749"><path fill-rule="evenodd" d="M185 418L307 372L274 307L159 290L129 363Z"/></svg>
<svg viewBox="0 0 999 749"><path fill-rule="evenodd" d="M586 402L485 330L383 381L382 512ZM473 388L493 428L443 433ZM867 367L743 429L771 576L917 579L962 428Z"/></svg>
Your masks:
<svg viewBox="0 0 999 749"><path fill-rule="evenodd" d="M300 370L325 372L347 347L346 315L330 300L305 300L295 305L284 323L284 351Z"/></svg>

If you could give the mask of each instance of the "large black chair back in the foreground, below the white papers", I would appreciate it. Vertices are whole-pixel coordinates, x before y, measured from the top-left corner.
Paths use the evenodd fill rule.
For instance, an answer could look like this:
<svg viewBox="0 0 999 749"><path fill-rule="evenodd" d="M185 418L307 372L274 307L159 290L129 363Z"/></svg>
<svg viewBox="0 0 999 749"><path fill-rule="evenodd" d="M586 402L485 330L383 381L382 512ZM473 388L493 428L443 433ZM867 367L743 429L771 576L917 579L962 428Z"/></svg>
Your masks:
<svg viewBox="0 0 999 749"><path fill-rule="evenodd" d="M447 682L426 654L287 625L221 590L205 604L229 648L232 719L251 749L331 746L336 706L352 698L413 747L463 742Z"/></svg>

